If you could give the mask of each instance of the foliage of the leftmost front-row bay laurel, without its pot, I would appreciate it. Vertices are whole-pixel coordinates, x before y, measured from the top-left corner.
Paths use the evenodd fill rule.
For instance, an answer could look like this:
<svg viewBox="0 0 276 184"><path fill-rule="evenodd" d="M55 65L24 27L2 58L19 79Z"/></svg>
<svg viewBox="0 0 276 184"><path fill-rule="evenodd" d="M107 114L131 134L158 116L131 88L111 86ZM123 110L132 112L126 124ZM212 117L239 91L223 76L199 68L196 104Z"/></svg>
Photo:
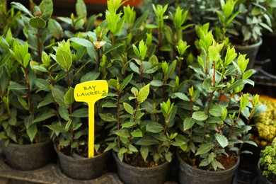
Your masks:
<svg viewBox="0 0 276 184"><path fill-rule="evenodd" d="M12 38L9 30L1 38L1 46L6 56L1 59L1 139L6 144L43 142L49 135L42 125L55 115L55 110L40 106L44 96L37 93L28 42Z"/></svg>

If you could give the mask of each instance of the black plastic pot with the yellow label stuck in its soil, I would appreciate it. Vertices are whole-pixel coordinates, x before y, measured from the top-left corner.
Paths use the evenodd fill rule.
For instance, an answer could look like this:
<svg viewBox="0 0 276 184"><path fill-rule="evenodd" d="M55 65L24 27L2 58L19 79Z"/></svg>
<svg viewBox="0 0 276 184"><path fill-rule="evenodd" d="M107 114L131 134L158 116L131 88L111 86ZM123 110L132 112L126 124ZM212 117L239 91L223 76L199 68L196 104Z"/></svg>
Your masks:
<svg viewBox="0 0 276 184"><path fill-rule="evenodd" d="M103 176L108 172L110 151L94 156L93 158L73 158L63 154L54 146L59 156L59 164L62 172L76 180L91 180Z"/></svg>

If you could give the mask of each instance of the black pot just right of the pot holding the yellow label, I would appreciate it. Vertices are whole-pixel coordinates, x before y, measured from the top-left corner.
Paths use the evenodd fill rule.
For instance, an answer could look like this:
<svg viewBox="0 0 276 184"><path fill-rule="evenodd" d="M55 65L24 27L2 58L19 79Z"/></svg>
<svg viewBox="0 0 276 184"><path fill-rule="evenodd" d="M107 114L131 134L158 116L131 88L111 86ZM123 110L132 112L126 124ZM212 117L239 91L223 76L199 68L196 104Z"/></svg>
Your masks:
<svg viewBox="0 0 276 184"><path fill-rule="evenodd" d="M153 168L141 168L120 161L114 151L113 157L117 163L117 173L125 184L159 184L165 183L168 178L168 162Z"/></svg>

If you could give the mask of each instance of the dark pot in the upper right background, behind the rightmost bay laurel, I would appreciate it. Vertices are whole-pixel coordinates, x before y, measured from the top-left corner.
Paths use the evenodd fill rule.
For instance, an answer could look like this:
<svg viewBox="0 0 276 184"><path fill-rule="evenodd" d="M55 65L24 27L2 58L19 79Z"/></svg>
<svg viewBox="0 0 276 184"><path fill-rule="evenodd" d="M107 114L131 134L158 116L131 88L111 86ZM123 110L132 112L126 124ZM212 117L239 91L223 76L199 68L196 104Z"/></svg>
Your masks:
<svg viewBox="0 0 276 184"><path fill-rule="evenodd" d="M255 65L255 58L258 54L260 45L262 45L263 40L260 38L259 42L253 45L235 45L236 52L240 52L241 54L246 54L246 58L249 59L247 69L253 69Z"/></svg>

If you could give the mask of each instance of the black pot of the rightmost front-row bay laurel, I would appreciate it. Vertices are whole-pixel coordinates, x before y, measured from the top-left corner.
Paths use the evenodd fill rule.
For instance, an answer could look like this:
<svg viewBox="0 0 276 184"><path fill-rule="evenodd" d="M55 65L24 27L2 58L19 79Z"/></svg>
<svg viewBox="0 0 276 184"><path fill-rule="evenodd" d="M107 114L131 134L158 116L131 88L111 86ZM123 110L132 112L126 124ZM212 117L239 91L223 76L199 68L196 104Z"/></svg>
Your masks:
<svg viewBox="0 0 276 184"><path fill-rule="evenodd" d="M231 184L240 161L238 159L232 168L224 171L205 171L199 168L193 168L188 163L185 163L178 154L178 151L176 151L176 156L180 164L179 183L186 184Z"/></svg>

